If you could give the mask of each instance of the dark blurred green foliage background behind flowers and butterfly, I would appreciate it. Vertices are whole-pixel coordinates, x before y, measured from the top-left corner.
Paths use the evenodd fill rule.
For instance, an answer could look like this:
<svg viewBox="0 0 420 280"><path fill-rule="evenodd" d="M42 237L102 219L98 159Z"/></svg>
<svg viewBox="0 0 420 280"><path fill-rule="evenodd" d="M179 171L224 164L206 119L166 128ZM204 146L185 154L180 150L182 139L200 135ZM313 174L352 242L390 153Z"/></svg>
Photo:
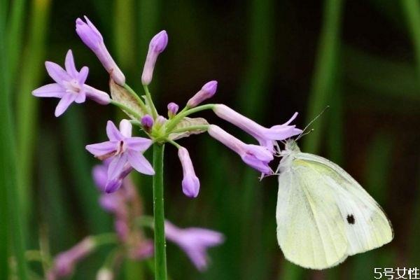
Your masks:
<svg viewBox="0 0 420 280"><path fill-rule="evenodd" d="M295 111L304 127L325 106L303 151L342 165L381 204L395 239L314 272L284 260L276 244L275 177L257 172L205 134L181 142L202 182L199 197L181 192L181 167L167 148L166 214L177 225L220 230L203 274L168 245L172 279L372 279L374 267L420 264L420 2L401 1L0 1L0 274L6 252L18 275L25 249L55 255L85 235L112 230L90 176L98 162L85 144L104 139L113 108L87 102L54 118L55 99L31 90L50 83L44 60L64 63L71 48L89 84L108 88L101 64L79 40L75 19L87 15L140 90L148 41L166 29L169 45L151 85L158 109L185 104L208 80L218 80L211 102L224 103L265 126ZM204 113L246 141L235 127ZM150 159L151 155L148 155ZM151 180L136 177L146 212ZM7 241L6 241L7 240ZM93 279L107 248L82 262L73 279ZM41 266L30 262L31 270ZM118 279L148 279L144 263L126 263ZM5 279L6 279L5 278ZM30 276L29 276L30 278Z"/></svg>

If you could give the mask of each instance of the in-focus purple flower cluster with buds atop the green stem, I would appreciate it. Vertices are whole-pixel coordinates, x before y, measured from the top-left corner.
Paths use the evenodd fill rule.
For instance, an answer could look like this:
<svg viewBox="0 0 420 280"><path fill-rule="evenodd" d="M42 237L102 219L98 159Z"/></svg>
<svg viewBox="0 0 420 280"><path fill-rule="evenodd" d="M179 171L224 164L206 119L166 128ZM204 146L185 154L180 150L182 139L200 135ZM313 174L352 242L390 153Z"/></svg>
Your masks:
<svg viewBox="0 0 420 280"><path fill-rule="evenodd" d="M99 104L111 103L120 106L130 116L130 120L121 120L120 130L116 128L116 125L111 120L108 121L106 134L109 141L86 146L87 151L99 160L111 159L108 165L107 183L102 189L106 193L118 190L121 181L132 169L143 174L154 174L153 167L143 155L153 143L169 142L179 149L179 160L183 168L183 193L188 197L197 197L200 190L200 181L194 172L188 151L186 148L176 144L174 142L175 139L207 131L211 137L237 153L247 165L265 175L272 174L269 162L274 159L274 142L293 137L302 132L295 125L290 125L296 118L297 113L283 125L274 125L267 128L223 104L199 106L216 93L218 85L216 80L211 80L203 85L188 100L181 112L179 112L179 106L171 102L167 106L168 118L160 116L153 105L148 85L153 79L153 71L158 56L167 47L167 32L165 30L160 31L151 39L149 44L144 70L141 75L141 81L146 90L145 100L135 94L125 83L125 76L107 50L102 34L88 18L85 17L85 21L80 18L76 20L76 32L83 43L97 55L106 71L109 72L112 81L111 95L113 90L119 90L119 92L125 94L123 98L113 96L111 99L106 92L86 85L88 69L86 66L83 66L80 71L76 70L71 50L66 55L65 70L53 62L45 62L48 73L56 83L39 87L34 90L33 94L37 97L60 98L61 100L55 110L55 116L62 115L72 102L85 102L86 97ZM132 104L127 102L127 96L130 96L130 94L134 94L134 99L137 102L136 106L132 106ZM130 99L130 102L132 102L132 99ZM222 130L221 127L209 125L207 120L202 118L191 119L187 117L191 113L204 109L212 109L216 116L232 123L254 137L259 145L245 144L243 141L225 132L225 130ZM148 138L132 137L132 123L138 125Z"/></svg>

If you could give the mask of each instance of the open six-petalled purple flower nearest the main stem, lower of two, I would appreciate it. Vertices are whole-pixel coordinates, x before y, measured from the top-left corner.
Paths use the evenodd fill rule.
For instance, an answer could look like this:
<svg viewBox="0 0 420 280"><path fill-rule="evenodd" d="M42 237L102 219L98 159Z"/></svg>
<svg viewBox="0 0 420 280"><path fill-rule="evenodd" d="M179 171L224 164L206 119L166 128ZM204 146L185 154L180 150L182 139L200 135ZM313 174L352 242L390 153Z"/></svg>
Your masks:
<svg viewBox="0 0 420 280"><path fill-rule="evenodd" d="M152 141L143 137L132 137L132 125L129 120L121 120L120 130L109 120L106 134L109 141L87 145L86 150L102 160L112 158L107 181L120 179L121 174L127 172L127 168L130 167L143 174L155 174L153 167L142 154L151 146ZM109 193L115 190L106 191Z"/></svg>

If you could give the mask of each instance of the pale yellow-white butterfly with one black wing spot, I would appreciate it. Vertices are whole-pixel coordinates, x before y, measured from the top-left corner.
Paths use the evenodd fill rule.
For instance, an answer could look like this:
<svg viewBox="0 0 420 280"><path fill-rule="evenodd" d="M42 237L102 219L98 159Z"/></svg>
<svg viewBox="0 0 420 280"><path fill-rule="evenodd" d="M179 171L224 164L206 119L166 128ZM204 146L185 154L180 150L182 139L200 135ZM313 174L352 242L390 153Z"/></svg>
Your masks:
<svg viewBox="0 0 420 280"><path fill-rule="evenodd" d="M293 140L281 156L277 239L287 260L325 269L393 239L384 211L341 167Z"/></svg>

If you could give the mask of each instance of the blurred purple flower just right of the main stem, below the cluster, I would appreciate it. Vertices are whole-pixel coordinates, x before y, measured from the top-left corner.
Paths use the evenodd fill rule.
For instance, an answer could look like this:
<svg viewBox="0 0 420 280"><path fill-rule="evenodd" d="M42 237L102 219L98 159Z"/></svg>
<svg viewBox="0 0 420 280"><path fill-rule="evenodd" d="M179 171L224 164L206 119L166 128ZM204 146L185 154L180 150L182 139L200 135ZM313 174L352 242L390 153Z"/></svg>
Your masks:
<svg viewBox="0 0 420 280"><path fill-rule="evenodd" d="M223 243L224 237L220 232L204 228L177 228L169 221L165 221L165 235L174 242L197 267L203 271L208 266L207 248Z"/></svg>

